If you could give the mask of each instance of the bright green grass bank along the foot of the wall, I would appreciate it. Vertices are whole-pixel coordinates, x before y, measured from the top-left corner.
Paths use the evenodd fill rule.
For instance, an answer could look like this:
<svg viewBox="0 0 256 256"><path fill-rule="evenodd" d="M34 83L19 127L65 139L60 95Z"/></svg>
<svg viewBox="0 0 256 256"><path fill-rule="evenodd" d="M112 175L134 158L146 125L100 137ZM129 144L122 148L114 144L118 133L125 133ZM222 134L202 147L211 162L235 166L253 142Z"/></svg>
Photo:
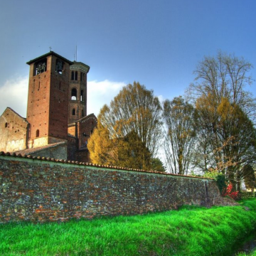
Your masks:
<svg viewBox="0 0 256 256"><path fill-rule="evenodd" d="M256 227L256 199L68 223L0 225L0 255L231 255Z"/></svg>

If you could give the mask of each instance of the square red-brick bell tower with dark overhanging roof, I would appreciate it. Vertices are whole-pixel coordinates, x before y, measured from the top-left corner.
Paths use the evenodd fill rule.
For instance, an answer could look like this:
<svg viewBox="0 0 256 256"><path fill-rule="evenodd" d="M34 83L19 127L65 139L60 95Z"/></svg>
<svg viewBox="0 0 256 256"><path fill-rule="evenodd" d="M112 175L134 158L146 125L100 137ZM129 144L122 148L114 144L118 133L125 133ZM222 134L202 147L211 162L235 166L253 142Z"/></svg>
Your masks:
<svg viewBox="0 0 256 256"><path fill-rule="evenodd" d="M70 65L73 62L50 51L27 64L30 65L26 118L28 148L66 142Z"/></svg>

